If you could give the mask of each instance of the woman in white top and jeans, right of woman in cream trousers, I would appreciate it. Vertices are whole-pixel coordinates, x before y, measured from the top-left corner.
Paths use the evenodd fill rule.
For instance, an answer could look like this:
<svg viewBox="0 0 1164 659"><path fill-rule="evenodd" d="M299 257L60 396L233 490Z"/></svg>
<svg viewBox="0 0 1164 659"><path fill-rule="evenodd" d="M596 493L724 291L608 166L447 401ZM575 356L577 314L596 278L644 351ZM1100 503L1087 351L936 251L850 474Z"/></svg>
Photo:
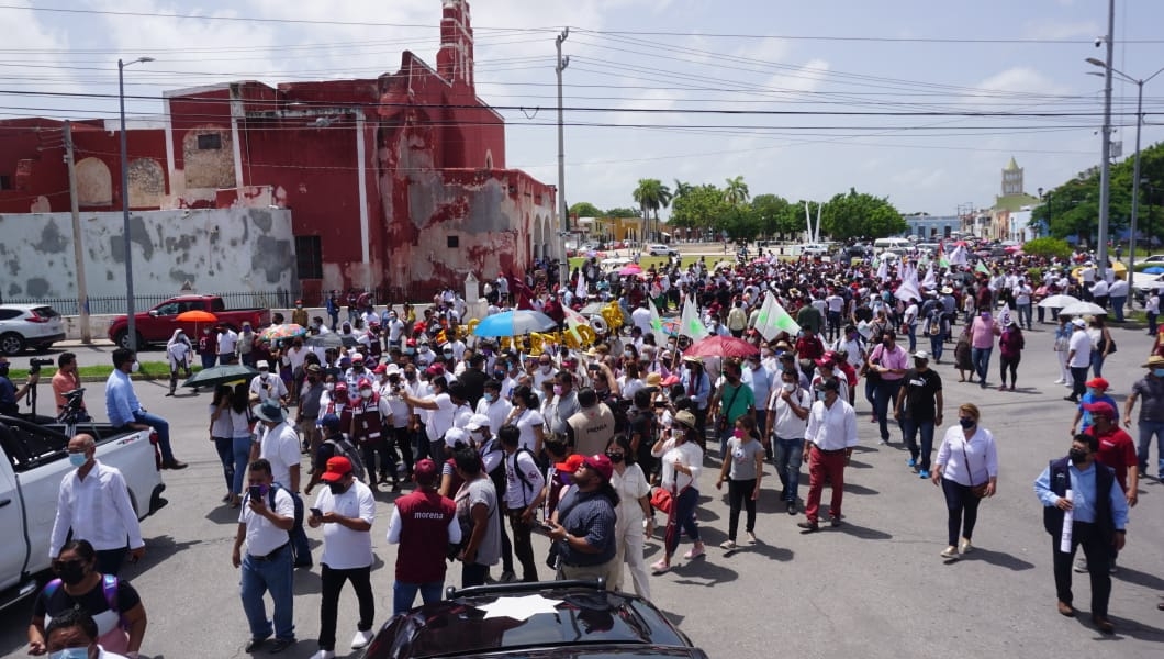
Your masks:
<svg viewBox="0 0 1164 659"><path fill-rule="evenodd" d="M651 448L651 455L661 459L661 487L672 495L670 515L663 536L663 557L651 566L655 574L670 569L670 557L679 548L680 526L695 543L683 558L691 560L704 554L700 526L695 519L695 505L700 501L700 472L703 465L703 451L696 444L696 437L695 414L681 410L675 413L670 439L667 439L666 434L660 434Z"/></svg>

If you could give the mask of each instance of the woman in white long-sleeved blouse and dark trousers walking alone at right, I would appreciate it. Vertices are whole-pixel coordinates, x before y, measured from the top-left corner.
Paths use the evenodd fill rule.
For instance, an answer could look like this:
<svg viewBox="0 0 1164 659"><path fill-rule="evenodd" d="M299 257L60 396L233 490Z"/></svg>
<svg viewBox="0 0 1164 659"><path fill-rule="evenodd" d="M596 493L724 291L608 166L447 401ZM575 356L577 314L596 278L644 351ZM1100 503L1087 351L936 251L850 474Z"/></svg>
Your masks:
<svg viewBox="0 0 1164 659"><path fill-rule="evenodd" d="M944 559L957 560L959 551L965 554L974 548L970 538L978 522L978 504L984 497L994 496L998 487L999 453L994 434L978 425L979 417L975 405L966 403L958 408L958 425L947 428L942 438L930 476L935 486L942 486L950 513L949 543L942 552ZM984 486L985 494L974 494Z"/></svg>

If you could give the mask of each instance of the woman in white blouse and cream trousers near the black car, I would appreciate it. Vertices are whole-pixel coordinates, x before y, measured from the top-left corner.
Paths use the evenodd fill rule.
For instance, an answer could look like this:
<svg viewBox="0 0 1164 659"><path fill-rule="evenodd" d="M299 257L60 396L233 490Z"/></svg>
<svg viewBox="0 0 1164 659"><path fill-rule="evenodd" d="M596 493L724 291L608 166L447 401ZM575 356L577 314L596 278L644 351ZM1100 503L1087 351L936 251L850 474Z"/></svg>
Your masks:
<svg viewBox="0 0 1164 659"><path fill-rule="evenodd" d="M634 582L634 594L651 600L651 583L647 581L647 564L643 558L644 529L643 519L653 526L651 515L651 486L643 469L634 463L634 452L625 434L616 434L606 444L606 458L615 466L610 484L618 493L617 522L615 523L615 543L618 547L615 554L612 581L615 588L626 590L623 583L623 562L631 568ZM651 532L652 530L647 530Z"/></svg>

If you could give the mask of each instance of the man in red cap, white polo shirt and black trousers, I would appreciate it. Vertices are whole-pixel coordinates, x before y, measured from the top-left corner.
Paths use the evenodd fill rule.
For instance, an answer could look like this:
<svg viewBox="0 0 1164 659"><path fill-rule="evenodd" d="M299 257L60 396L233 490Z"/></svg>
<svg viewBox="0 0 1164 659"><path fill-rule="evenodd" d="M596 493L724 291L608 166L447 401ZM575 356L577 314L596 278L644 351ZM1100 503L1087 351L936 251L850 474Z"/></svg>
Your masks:
<svg viewBox="0 0 1164 659"><path fill-rule="evenodd" d="M324 554L319 558L322 568L319 652L312 659L333 659L345 581L352 582L360 601L360 621L352 638L352 650L371 642L371 623L376 617L376 598L371 591L371 525L376 520L376 498L371 489L355 477L352 462L342 455L327 460L321 480L327 488L319 491L307 519L312 529L324 526Z"/></svg>

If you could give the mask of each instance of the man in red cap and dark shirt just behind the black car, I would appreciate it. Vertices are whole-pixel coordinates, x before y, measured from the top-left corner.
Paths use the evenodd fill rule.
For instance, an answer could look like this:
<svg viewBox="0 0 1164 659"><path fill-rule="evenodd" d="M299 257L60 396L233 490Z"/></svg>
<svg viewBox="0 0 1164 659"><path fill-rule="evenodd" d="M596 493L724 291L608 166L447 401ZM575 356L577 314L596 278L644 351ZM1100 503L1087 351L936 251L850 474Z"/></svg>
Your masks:
<svg viewBox="0 0 1164 659"><path fill-rule="evenodd" d="M618 494L610 484L615 466L595 454L582 459L574 472L574 487L558 503L548 523L549 539L558 550L559 579L602 576L613 583L615 508Z"/></svg>

